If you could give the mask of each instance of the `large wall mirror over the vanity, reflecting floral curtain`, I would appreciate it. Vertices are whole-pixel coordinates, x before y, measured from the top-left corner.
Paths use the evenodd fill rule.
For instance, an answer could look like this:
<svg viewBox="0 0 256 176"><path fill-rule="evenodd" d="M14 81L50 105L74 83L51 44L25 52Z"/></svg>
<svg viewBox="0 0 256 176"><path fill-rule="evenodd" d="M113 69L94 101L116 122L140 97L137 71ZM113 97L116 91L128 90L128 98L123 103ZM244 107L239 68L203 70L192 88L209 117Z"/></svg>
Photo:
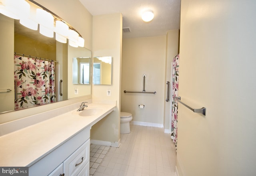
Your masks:
<svg viewBox="0 0 256 176"><path fill-rule="evenodd" d="M0 14L0 26L2 26L0 28L0 37L3 44L0 49L0 61L4 64L3 69L0 69L0 101L2 102L0 113L73 98L68 95L68 74L72 74L68 72L68 59L74 57L91 58L91 51L84 47L79 47L87 55L72 55L72 52L68 52L76 48L57 42L55 38L45 37L38 30L30 30L20 25L18 20L2 14ZM48 62L53 62L54 66L39 65L39 63ZM90 64L90 61L88 63ZM38 66L38 68L35 66ZM46 70L47 74L44 73L41 76L43 75L42 77L48 77L49 79L47 81L38 81L41 78L34 79L37 75L40 75L40 73L34 71L37 69ZM53 69L55 72L51 73L50 70ZM20 80L24 75L28 75L30 79L26 81ZM54 86L52 86L53 80ZM36 85L36 87L31 88L32 85ZM10 91L5 91L8 89ZM39 90L40 93L44 92L47 97L45 95L36 97L36 94L40 93L36 93L35 89ZM84 91L85 93L82 92L83 94L80 93L79 96L90 95L91 87L87 86L85 89L88 90ZM56 97L51 94L54 90ZM54 98L55 100L53 100ZM27 104L33 105L26 106ZM17 106L20 106L20 108L17 108Z"/></svg>

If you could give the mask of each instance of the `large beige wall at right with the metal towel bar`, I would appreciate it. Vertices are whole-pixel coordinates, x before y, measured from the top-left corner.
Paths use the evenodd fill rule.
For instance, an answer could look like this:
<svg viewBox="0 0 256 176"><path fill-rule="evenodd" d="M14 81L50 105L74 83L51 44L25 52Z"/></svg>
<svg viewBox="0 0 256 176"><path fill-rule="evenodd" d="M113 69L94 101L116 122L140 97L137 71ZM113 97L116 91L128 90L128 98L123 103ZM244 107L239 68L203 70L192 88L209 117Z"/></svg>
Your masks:
<svg viewBox="0 0 256 176"><path fill-rule="evenodd" d="M182 0L180 176L255 176L256 3Z"/></svg>

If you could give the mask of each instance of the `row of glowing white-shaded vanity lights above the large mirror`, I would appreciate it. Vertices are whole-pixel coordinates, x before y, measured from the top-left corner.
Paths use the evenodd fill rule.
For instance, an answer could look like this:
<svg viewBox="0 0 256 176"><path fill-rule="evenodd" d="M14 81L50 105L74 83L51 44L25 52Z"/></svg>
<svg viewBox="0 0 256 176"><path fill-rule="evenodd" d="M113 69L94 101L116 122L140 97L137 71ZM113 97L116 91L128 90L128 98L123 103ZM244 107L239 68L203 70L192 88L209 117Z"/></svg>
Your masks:
<svg viewBox="0 0 256 176"><path fill-rule="evenodd" d="M84 47L82 36L62 18L38 4L34 0L0 0L0 13L10 18L20 20L20 24L32 30L38 29L40 34L52 38L56 33L56 40L73 47ZM56 27L54 28L54 19Z"/></svg>

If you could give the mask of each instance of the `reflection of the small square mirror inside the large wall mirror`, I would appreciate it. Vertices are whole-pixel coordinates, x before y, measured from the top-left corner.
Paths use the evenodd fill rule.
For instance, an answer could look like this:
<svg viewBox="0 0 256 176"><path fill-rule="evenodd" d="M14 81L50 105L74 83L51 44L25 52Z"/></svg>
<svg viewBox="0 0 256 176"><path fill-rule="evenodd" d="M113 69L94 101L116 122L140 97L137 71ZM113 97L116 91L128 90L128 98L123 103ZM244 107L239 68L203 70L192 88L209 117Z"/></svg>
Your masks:
<svg viewBox="0 0 256 176"><path fill-rule="evenodd" d="M73 84L90 84L90 57L73 58Z"/></svg>

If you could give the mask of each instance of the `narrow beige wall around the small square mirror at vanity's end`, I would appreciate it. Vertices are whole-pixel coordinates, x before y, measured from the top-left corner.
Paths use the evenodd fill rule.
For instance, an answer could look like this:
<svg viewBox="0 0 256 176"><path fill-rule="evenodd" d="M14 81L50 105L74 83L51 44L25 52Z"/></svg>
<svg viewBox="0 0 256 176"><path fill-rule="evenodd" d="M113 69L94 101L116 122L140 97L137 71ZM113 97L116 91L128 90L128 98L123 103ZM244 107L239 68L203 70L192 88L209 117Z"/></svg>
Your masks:
<svg viewBox="0 0 256 176"><path fill-rule="evenodd" d="M92 85L92 98L115 100L117 109L92 127L91 139L118 142L120 139L122 15L117 13L93 16L92 38L93 57L112 56L113 65L112 85ZM107 90L111 90L111 96L107 96Z"/></svg>

